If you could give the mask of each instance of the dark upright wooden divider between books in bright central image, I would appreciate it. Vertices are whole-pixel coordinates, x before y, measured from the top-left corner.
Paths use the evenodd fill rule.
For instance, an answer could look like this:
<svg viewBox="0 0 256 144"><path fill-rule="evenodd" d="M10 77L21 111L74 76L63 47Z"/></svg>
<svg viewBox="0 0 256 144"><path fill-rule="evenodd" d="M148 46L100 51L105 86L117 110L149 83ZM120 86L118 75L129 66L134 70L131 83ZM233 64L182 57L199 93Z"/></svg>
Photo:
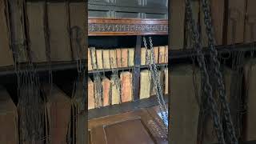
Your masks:
<svg viewBox="0 0 256 144"><path fill-rule="evenodd" d="M136 38L136 47L134 54L134 101L139 100L139 89L140 89L140 74L141 74L141 44L142 36L138 35Z"/></svg>

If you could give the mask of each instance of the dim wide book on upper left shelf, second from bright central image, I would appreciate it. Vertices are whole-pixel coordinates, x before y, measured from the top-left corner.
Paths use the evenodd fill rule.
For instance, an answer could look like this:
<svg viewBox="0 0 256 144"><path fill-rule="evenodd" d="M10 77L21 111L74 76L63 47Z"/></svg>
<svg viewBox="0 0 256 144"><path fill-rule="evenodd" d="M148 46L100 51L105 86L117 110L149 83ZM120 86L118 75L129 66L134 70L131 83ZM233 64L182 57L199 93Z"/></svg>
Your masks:
<svg viewBox="0 0 256 144"><path fill-rule="evenodd" d="M72 60L67 2L48 3L50 55L52 61Z"/></svg>

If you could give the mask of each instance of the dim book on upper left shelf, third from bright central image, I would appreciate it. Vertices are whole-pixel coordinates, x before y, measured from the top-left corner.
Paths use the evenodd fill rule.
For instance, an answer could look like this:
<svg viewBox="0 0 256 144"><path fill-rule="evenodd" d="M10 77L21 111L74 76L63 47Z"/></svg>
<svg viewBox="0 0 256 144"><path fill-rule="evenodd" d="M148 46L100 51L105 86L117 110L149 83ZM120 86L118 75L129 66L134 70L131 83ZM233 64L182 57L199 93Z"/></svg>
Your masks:
<svg viewBox="0 0 256 144"><path fill-rule="evenodd" d="M46 62L45 2L26 2L32 62ZM50 54L50 53L49 53Z"/></svg>

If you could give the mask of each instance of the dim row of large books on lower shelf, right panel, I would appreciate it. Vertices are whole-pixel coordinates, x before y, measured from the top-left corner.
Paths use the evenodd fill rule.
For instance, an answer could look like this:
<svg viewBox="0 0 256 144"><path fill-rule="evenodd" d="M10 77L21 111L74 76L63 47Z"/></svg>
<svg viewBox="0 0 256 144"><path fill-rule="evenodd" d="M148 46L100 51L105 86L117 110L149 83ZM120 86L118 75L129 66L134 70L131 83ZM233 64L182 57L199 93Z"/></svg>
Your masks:
<svg viewBox="0 0 256 144"><path fill-rule="evenodd" d="M246 133L243 141L255 140L256 59L246 62L246 65L243 66L243 73L232 70L227 66L223 67L222 74L226 99L229 102L230 114L233 124L236 126L236 133L238 134L241 132L240 130L243 130L243 133ZM210 81L213 85L214 82ZM241 91L244 91L244 93ZM213 94L218 94L215 92ZM218 143L216 134L213 134L214 126L210 114L206 112L201 115L201 110L205 110L205 108L200 109L200 103L206 100L206 96L202 94L202 77L197 67L192 65L172 67L170 71L170 95L169 111L172 114L170 130L173 134L170 142L196 144L198 143L197 138L200 137L203 144ZM220 111L221 104L218 101L218 95L215 95L214 98L216 98ZM246 98L244 104L241 103L242 98ZM244 107L246 109L243 109ZM242 115L240 115L241 113ZM184 136L183 139L178 138L181 133Z"/></svg>

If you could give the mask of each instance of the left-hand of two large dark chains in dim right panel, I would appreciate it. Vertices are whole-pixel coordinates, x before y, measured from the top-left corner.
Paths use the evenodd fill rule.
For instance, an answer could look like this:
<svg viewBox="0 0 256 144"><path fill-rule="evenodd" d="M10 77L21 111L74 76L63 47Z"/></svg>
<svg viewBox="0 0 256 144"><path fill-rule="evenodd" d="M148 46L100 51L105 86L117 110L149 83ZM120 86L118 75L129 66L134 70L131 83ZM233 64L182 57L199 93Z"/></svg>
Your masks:
<svg viewBox="0 0 256 144"><path fill-rule="evenodd" d="M192 34L192 43L194 46L194 49L196 50L198 57L198 65L200 69L202 70L202 80L204 82L204 85L202 86L203 93L208 96L207 102L208 105L210 106L210 115L214 120L214 128L216 130L218 142L222 144L226 144L224 135L223 135L223 130L222 130L222 124L220 122L220 118L218 115L218 109L216 102L213 97L213 90L212 86L210 85L209 82L209 74L206 70L206 62L205 62L205 57L204 54L202 54L202 45L199 41L199 34L198 34L198 29L195 24L193 14L192 14L192 5L190 0L186 0L186 21L189 23L190 26L190 33Z"/></svg>

